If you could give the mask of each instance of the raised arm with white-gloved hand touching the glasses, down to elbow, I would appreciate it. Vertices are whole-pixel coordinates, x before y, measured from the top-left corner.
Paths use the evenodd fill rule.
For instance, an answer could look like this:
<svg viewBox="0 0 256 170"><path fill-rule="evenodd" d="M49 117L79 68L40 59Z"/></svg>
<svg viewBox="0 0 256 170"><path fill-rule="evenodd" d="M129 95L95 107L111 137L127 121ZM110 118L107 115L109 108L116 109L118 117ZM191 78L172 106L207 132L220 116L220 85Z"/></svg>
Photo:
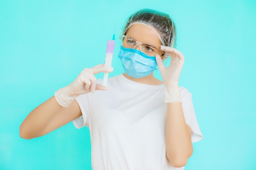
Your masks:
<svg viewBox="0 0 256 170"><path fill-rule="evenodd" d="M161 57L155 56L164 82L164 103L167 104L166 156L174 167L182 167L193 152L191 128L185 122L179 88L185 58L172 47L161 46L161 50L171 57L170 65L165 67Z"/></svg>

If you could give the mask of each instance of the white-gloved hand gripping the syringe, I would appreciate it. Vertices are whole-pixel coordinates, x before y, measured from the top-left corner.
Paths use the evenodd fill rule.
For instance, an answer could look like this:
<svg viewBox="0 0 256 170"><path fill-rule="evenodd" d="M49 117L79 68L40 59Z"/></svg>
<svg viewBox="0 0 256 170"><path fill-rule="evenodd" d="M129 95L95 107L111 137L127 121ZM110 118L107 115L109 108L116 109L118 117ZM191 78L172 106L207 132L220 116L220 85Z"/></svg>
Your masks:
<svg viewBox="0 0 256 170"><path fill-rule="evenodd" d="M96 84L96 77L94 74L100 72L112 72L113 68L99 64L92 68L85 68L78 77L70 85L57 90L54 94L59 105L63 107L69 106L76 97L81 94L94 92L95 90L108 90L108 87Z"/></svg>

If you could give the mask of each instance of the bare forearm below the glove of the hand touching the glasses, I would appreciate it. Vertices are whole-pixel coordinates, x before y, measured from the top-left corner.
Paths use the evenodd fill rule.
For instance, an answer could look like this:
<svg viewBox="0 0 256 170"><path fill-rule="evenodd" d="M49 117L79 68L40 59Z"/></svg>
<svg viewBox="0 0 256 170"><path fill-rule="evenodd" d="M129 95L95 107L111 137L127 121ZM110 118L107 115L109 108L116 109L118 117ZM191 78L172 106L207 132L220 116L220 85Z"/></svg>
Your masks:
<svg viewBox="0 0 256 170"><path fill-rule="evenodd" d="M166 156L175 167L186 165L192 155L191 131L186 125L182 104L167 104L166 115Z"/></svg>

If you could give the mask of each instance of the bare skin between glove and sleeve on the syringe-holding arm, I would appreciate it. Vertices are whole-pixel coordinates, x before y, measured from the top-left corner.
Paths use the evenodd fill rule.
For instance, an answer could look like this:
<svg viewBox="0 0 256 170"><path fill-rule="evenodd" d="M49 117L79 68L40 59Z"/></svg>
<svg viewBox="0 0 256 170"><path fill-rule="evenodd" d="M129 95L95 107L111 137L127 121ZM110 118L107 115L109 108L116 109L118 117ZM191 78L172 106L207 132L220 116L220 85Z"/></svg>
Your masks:
<svg viewBox="0 0 256 170"><path fill-rule="evenodd" d="M20 137L32 139L43 136L81 115L76 100L70 106L62 107L53 96L29 113L20 125Z"/></svg>

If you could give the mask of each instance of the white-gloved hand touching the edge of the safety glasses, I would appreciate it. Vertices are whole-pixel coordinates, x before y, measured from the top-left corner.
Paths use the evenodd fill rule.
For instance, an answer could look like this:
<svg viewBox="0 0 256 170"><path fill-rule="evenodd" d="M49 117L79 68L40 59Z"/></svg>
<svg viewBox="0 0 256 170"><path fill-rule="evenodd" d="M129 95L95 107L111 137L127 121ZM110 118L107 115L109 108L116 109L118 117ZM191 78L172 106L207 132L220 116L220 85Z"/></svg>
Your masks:
<svg viewBox="0 0 256 170"><path fill-rule="evenodd" d="M180 51L172 47L161 46L161 50L165 51L171 57L171 64L165 67L160 55L157 54L155 56L164 82L164 103L182 102L179 78L185 58Z"/></svg>

